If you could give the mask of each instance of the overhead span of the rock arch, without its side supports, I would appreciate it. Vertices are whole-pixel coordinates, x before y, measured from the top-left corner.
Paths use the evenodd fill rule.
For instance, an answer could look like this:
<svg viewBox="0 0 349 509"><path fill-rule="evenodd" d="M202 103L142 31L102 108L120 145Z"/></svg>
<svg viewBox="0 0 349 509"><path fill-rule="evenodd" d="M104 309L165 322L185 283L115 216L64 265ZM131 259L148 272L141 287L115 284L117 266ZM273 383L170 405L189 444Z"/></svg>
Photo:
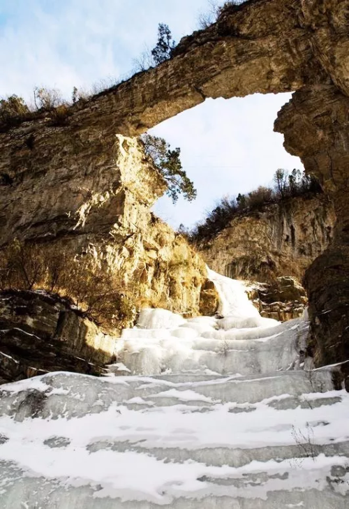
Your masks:
<svg viewBox="0 0 349 509"><path fill-rule="evenodd" d="M138 135L208 97L275 94L328 82L334 47L336 59L348 61L346 1L314 1L313 10L299 0L254 0L227 10L205 31L182 39L170 61L77 105L71 121ZM318 59L322 49L324 61ZM345 71L336 68L343 87Z"/></svg>

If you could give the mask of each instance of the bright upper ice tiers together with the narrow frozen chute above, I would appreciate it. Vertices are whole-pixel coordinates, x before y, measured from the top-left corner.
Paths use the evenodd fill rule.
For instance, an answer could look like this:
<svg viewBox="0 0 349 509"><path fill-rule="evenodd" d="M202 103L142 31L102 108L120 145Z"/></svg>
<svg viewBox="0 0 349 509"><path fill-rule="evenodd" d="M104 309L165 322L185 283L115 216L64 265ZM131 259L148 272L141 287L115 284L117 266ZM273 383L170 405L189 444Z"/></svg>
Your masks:
<svg viewBox="0 0 349 509"><path fill-rule="evenodd" d="M131 374L147 376L195 369L254 374L297 367L307 322L280 324L262 318L242 281L211 270L209 277L221 300L218 316L186 320L164 309L143 309L136 327L122 332L117 361ZM110 367L111 373L118 371Z"/></svg>

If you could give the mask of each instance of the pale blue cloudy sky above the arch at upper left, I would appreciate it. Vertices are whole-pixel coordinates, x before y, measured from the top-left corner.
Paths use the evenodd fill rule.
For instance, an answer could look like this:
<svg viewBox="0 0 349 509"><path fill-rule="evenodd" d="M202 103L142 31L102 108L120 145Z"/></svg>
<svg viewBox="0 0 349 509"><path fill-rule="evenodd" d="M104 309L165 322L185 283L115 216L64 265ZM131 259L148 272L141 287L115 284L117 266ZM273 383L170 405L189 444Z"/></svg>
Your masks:
<svg viewBox="0 0 349 509"><path fill-rule="evenodd" d="M0 10L0 95L28 98L36 84L89 87L131 71L145 43L156 42L158 22L175 38L192 31L205 1L27 0Z"/></svg>

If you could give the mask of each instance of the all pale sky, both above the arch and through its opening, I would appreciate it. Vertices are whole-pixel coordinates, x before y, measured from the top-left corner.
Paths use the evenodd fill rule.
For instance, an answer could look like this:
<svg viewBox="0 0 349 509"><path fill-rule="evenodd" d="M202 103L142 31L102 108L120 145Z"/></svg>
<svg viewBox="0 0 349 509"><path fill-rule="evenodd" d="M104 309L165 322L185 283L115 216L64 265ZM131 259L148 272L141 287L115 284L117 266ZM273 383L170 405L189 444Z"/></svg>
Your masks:
<svg viewBox="0 0 349 509"><path fill-rule="evenodd" d="M159 22L174 40L198 29L207 0L0 0L0 96L32 100L36 86L90 89L130 75L133 59L156 43ZM269 184L277 168L301 168L273 124L290 94L207 100L150 132L181 147L198 189L195 202L170 198L155 211L175 228L193 226L224 195Z"/></svg>

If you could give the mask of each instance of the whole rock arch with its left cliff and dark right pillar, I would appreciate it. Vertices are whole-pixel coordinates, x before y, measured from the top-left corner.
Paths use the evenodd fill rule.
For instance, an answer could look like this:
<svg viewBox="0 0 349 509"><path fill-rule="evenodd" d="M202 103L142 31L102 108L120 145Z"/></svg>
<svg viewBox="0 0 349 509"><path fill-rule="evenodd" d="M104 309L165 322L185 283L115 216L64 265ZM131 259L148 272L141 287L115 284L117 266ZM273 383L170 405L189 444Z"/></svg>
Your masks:
<svg viewBox="0 0 349 509"><path fill-rule="evenodd" d="M176 243L182 241L166 226L160 233L152 228L146 212L162 184L151 170L136 172L136 179L115 172L115 161L131 161L133 150L133 140L120 137L116 149L115 135L143 133L208 97L295 91L275 129L285 135L288 152L320 179L337 218L332 244L306 274L313 341L319 363L348 359L348 10L348 0L230 6L211 27L181 40L170 60L78 101L65 126L45 117L1 133L0 168L11 182L1 193L1 243L14 236L57 249L66 243L72 256L91 253L97 265L128 263L125 278L144 281L147 302L159 295L151 285L160 285L169 307L195 311L205 267L181 244L186 267L171 282L171 246L181 251ZM142 242L135 240L140 231ZM188 265L195 273L189 280Z"/></svg>

